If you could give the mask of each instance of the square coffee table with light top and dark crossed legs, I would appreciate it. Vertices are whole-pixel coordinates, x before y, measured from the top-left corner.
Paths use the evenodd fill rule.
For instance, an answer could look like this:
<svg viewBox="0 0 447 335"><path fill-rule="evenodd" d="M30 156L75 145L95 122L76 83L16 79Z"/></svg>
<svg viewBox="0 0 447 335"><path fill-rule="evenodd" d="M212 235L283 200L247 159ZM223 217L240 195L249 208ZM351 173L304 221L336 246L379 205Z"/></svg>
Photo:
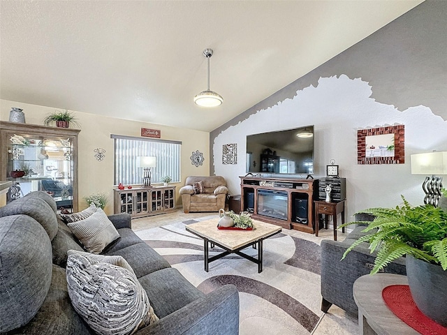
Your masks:
<svg viewBox="0 0 447 335"><path fill-rule="evenodd" d="M219 218L212 218L211 220L201 221L198 223L192 223L186 225L186 230L203 239L203 253L204 253L204 265L205 271L208 271L210 262L219 260L230 253L240 255L247 260L251 260L258 265L258 273L263 271L263 240L281 232L281 227L265 223L261 221L253 221L254 230L219 230L217 229L217 223ZM211 247L216 244L225 250L219 255L212 257L208 254L208 245ZM245 253L242 253L242 249L248 246L258 248L258 258L251 257Z"/></svg>

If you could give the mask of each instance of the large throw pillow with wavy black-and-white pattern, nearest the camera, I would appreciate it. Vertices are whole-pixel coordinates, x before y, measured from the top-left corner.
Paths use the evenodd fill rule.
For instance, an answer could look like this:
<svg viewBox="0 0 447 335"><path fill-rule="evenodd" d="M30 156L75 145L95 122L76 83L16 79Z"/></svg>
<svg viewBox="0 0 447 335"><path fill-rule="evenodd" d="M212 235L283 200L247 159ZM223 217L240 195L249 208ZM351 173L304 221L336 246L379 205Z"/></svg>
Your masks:
<svg viewBox="0 0 447 335"><path fill-rule="evenodd" d="M66 278L71 304L96 334L133 334L159 320L129 268L121 256L68 251Z"/></svg>

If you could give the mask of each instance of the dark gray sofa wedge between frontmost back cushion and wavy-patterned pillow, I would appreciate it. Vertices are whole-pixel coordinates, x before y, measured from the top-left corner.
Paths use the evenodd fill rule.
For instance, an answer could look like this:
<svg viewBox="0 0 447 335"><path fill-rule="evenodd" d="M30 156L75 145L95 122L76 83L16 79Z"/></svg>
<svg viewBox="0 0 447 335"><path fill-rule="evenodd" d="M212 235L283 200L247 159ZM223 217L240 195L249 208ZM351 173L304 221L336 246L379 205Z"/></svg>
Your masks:
<svg viewBox="0 0 447 335"><path fill-rule="evenodd" d="M70 297L68 297L65 269L52 265L50 290L41 309L31 322L16 329L14 334L96 335L76 313L71 304Z"/></svg>

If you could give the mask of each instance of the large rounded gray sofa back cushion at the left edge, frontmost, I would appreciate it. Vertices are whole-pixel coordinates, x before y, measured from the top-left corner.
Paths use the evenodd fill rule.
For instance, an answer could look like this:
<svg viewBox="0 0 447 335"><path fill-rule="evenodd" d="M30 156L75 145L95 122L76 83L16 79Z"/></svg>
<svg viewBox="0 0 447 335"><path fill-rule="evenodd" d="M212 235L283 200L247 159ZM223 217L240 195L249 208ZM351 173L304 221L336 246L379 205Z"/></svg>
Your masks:
<svg viewBox="0 0 447 335"><path fill-rule="evenodd" d="M26 215L0 218L0 332L34 317L50 288L51 269L51 243L42 225Z"/></svg>

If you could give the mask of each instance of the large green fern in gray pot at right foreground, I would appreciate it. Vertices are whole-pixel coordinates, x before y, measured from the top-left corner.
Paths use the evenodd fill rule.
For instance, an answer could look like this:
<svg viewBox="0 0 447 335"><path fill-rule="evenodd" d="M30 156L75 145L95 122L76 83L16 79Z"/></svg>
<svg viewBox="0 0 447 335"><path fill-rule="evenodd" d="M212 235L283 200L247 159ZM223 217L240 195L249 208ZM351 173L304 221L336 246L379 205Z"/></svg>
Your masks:
<svg viewBox="0 0 447 335"><path fill-rule="evenodd" d="M412 207L404 197L402 199L401 207L362 211L376 217L374 221L365 222L364 231L370 234L355 241L343 258L358 244L368 242L372 253L378 251L371 271L376 274L393 260L406 256L406 276L416 306L446 327L447 207L431 204ZM352 223L340 228L349 224Z"/></svg>

